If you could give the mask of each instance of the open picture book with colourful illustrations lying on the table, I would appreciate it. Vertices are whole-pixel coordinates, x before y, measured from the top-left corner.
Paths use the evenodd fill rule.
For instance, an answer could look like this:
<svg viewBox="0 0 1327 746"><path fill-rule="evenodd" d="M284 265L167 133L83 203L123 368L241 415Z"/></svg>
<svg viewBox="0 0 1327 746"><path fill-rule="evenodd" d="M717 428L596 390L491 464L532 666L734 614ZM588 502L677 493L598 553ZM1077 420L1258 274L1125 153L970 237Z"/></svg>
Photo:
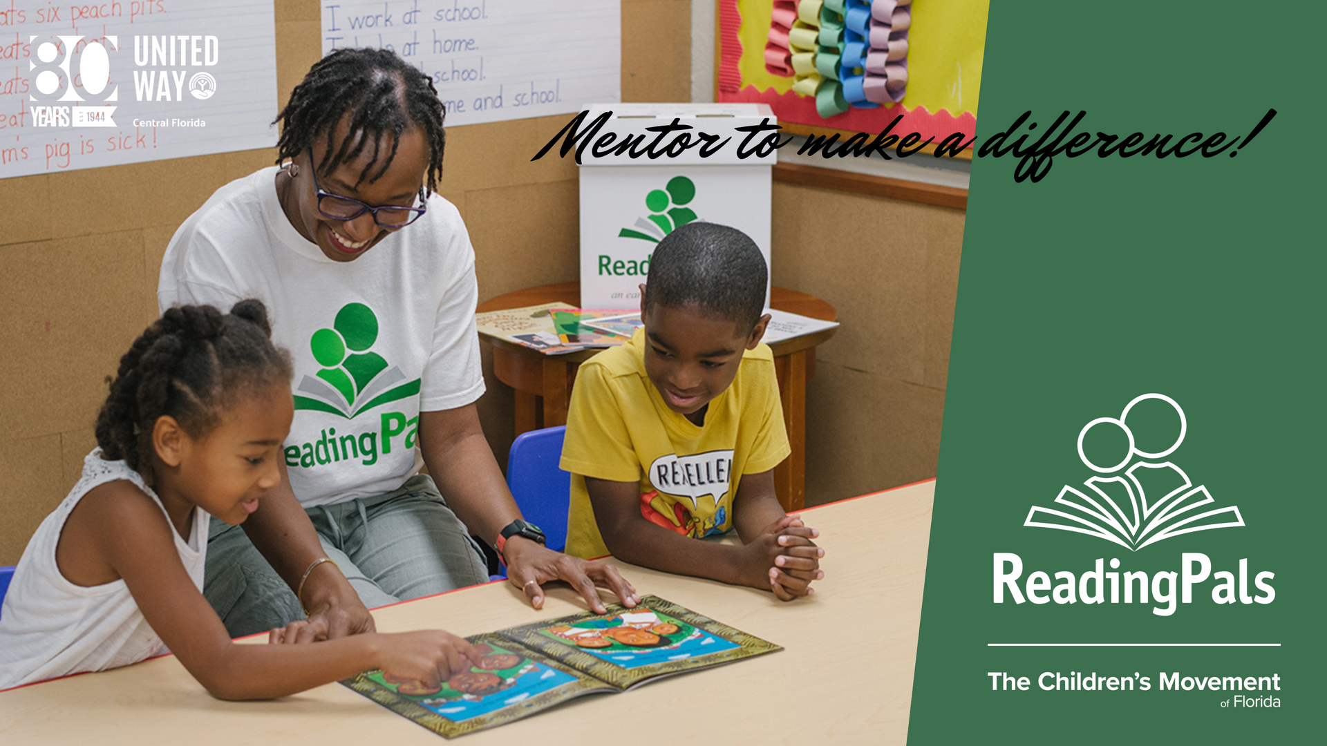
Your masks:
<svg viewBox="0 0 1327 746"><path fill-rule="evenodd" d="M625 692L657 678L783 648L645 596L634 609L581 612L467 637L480 665L438 688L381 670L341 684L454 738L532 715L581 694Z"/></svg>

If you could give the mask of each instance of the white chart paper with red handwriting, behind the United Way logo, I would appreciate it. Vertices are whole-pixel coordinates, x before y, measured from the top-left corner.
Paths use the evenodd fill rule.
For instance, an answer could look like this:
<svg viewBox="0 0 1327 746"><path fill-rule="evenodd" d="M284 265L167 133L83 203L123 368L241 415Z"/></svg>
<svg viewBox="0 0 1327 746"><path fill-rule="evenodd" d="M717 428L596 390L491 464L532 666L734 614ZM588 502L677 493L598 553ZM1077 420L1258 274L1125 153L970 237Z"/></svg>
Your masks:
<svg viewBox="0 0 1327 746"><path fill-rule="evenodd" d="M269 1L0 4L0 178L271 147L275 115Z"/></svg>

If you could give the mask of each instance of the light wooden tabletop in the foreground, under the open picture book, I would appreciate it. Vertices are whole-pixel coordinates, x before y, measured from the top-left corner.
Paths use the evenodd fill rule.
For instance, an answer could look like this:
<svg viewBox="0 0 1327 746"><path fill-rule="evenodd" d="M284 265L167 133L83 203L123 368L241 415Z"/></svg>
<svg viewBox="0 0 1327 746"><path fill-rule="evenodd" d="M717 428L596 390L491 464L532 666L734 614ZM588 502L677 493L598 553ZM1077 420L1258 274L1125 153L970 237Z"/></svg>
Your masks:
<svg viewBox="0 0 1327 746"><path fill-rule="evenodd" d="M665 575L620 563L654 593L786 649L563 706L463 737L557 745L902 745L908 734L934 482L803 511L821 531L824 580L809 599ZM384 632L445 627L491 632L584 609L551 587L543 611L492 583L374 611ZM263 644L259 638L251 638ZM442 739L360 694L329 684L265 702L210 697L174 656L0 693L0 742L439 745Z"/></svg>

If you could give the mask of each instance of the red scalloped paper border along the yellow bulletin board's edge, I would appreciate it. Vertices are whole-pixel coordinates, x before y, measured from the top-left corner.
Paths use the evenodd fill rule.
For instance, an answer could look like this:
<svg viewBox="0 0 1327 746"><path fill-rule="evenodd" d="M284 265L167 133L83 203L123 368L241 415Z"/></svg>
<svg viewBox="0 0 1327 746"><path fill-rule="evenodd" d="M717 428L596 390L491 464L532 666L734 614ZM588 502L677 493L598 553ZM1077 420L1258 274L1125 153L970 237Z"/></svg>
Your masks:
<svg viewBox="0 0 1327 746"><path fill-rule="evenodd" d="M882 130L898 114L904 119L893 129L893 134L918 133L922 139L936 138L936 142L957 133L971 139L977 135L977 117L965 112L954 117L947 109L932 114L925 106L906 109L901 104L878 109L849 109L828 119L816 113L816 102L791 90L778 93L774 89L756 90L752 85L742 85L738 61L742 58L742 13L738 0L719 0L719 72L715 97L723 104L768 104L779 115L779 121L836 130L874 133Z"/></svg>

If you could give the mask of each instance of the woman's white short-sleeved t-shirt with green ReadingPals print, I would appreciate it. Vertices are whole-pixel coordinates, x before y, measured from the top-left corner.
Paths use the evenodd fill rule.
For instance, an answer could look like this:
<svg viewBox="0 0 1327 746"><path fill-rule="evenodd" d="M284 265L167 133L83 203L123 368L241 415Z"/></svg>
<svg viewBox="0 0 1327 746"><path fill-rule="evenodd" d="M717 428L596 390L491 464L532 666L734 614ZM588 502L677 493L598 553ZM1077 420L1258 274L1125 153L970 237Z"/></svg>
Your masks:
<svg viewBox="0 0 1327 746"><path fill-rule="evenodd" d="M157 304L267 304L272 340L295 360L284 453L300 503L390 492L419 470L419 411L484 393L470 235L434 194L419 220L333 261L285 216L276 173L226 185L184 220Z"/></svg>

